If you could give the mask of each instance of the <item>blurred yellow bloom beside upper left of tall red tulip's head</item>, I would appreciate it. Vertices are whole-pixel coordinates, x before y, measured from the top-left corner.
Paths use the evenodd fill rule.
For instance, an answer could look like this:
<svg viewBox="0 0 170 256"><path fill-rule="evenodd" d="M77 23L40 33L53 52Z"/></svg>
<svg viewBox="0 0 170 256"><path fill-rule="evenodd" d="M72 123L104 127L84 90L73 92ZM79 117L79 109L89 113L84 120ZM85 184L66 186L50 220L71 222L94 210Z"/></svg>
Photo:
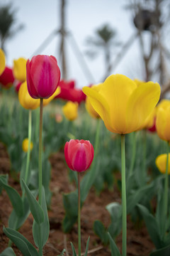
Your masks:
<svg viewBox="0 0 170 256"><path fill-rule="evenodd" d="M21 82L26 81L26 62L26 58L18 58L18 60L13 60L13 75Z"/></svg>

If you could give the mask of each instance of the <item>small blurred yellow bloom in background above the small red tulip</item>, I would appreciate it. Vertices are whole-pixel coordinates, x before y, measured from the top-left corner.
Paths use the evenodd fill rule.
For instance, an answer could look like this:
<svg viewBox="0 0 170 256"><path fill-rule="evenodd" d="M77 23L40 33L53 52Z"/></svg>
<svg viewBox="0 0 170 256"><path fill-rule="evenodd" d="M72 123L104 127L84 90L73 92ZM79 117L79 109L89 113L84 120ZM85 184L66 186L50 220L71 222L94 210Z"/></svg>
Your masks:
<svg viewBox="0 0 170 256"><path fill-rule="evenodd" d="M66 105L64 105L62 107L62 111L64 113L64 116L67 119L69 119L69 121L73 121L74 119L77 119L78 107L79 107L79 104L77 102L68 101L66 103Z"/></svg>

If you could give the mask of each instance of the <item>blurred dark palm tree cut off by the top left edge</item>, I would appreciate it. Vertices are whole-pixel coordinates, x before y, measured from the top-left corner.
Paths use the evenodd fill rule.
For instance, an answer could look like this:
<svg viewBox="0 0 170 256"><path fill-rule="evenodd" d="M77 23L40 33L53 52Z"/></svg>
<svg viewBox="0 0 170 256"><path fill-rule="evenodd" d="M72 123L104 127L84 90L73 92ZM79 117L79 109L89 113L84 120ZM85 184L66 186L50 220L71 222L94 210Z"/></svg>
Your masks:
<svg viewBox="0 0 170 256"><path fill-rule="evenodd" d="M11 4L0 6L0 48L4 51L6 41L16 36L16 33L23 28L23 24L15 26L16 12Z"/></svg>

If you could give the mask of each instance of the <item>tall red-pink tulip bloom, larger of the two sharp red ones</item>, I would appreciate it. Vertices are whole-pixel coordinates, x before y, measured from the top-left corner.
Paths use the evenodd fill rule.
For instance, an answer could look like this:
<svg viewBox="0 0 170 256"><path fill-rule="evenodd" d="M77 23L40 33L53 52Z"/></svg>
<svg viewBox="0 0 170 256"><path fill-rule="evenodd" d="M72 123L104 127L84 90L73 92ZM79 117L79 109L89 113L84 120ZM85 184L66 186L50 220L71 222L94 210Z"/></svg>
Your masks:
<svg viewBox="0 0 170 256"><path fill-rule="evenodd" d="M52 96L60 82L60 68L54 56L36 55L26 63L28 92L34 99Z"/></svg>

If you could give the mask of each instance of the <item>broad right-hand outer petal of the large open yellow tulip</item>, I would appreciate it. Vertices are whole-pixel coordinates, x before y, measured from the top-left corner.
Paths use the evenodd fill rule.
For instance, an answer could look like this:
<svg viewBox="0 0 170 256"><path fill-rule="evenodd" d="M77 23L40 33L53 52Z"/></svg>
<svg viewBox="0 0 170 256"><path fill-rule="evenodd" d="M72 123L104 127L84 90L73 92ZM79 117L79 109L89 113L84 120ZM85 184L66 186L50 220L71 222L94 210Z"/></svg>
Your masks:
<svg viewBox="0 0 170 256"><path fill-rule="evenodd" d="M145 120L157 105L160 93L161 89L157 82L146 82L132 92L126 109L128 127L126 133L142 128Z"/></svg>

